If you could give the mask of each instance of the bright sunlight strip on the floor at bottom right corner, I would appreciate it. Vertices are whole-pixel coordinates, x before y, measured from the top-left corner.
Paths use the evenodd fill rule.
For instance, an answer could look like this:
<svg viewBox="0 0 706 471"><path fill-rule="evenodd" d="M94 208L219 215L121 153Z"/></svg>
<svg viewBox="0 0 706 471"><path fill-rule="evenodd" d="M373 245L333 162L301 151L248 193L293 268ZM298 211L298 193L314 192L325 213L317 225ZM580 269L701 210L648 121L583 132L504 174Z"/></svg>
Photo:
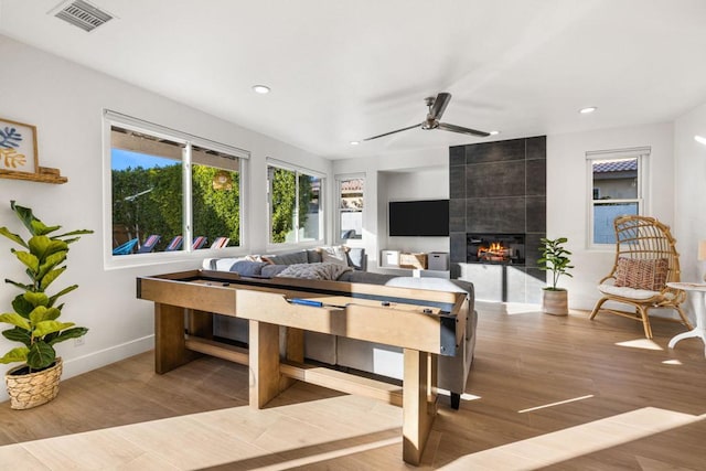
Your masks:
<svg viewBox="0 0 706 471"><path fill-rule="evenodd" d="M439 469L446 471L541 469L542 467L616 447L703 419L703 416L697 417L655 407L645 407L467 454Z"/></svg>

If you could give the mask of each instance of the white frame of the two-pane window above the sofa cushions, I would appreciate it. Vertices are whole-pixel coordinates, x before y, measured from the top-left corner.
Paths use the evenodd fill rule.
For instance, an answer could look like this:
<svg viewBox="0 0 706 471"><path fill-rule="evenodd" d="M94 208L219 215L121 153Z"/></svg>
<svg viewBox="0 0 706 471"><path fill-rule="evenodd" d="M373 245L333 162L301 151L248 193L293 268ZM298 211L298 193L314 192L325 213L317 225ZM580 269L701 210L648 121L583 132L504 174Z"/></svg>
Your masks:
<svg viewBox="0 0 706 471"><path fill-rule="evenodd" d="M271 200L271 182L269 181L269 168L274 167L280 170L287 170L290 172L295 172L297 184L295 184L296 195L295 201L297 202L297 207L295 207L296 220L299 221L299 175L304 174L309 176L315 176L321 180L321 184L319 188L319 238L315 240L299 240L299 227L295 231L296 242L282 242L276 243L272 242L272 200ZM311 170L304 167L295 165L289 162L284 162L281 160L277 160L274 158L267 158L265 164L265 179L267 186L266 194L266 205L267 205L267 249L268 250L279 250L279 249L289 249L297 247L318 247L325 244L325 227L327 227L327 174L322 172L318 172L315 170Z"/></svg>

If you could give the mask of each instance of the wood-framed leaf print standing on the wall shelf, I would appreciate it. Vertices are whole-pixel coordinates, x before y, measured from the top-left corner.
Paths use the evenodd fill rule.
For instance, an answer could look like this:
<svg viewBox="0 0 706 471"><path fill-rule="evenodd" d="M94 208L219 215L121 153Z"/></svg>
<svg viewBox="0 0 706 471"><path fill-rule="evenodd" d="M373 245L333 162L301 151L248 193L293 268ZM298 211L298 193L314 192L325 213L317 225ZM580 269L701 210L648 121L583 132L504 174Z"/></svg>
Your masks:
<svg viewBox="0 0 706 471"><path fill-rule="evenodd" d="M0 171L40 172L34 126L0 118Z"/></svg>

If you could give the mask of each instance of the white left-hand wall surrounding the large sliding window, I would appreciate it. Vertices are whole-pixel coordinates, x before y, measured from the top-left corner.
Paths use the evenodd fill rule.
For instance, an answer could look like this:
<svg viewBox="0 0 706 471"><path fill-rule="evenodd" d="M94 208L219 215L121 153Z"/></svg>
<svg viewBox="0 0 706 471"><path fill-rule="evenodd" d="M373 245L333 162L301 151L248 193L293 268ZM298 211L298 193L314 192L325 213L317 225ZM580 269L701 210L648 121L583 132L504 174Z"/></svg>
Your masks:
<svg viewBox="0 0 706 471"><path fill-rule="evenodd" d="M68 270L56 281L78 283L65 297L63 320L90 331L85 345L68 341L57 345L65 361L64 377L93 370L152 346L152 306L136 299L136 277L195 268L201 258L142 268L105 270L103 267L105 203L103 194L101 118L109 108L140 119L190 132L252 152L246 207L246 237L249 247L239 251L265 251L267 242L267 157L331 174L329 160L266 136L240 128L104 74L41 52L0 35L1 116L35 125L42 167L58 168L68 183L53 185L18 180L0 180L0 225L23 229L10 211L10 200L32 207L45 223L66 229L90 228L96 233L72 246ZM331 227L327 228L331 234ZM21 280L20 264L9 250L12 243L0 240L2 278ZM0 285L0 307L9 310L18 293ZM0 351L15 346L0 339ZM0 400L7 398L4 389Z"/></svg>

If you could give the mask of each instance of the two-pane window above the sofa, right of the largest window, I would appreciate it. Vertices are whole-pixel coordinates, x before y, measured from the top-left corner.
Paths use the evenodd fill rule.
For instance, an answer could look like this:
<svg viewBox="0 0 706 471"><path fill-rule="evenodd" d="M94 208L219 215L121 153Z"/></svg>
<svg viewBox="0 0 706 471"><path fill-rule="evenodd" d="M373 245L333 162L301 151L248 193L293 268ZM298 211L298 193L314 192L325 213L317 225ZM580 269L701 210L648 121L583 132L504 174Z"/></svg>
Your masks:
<svg viewBox="0 0 706 471"><path fill-rule="evenodd" d="M270 244L323 239L322 186L323 179L311 171L268 164Z"/></svg>

